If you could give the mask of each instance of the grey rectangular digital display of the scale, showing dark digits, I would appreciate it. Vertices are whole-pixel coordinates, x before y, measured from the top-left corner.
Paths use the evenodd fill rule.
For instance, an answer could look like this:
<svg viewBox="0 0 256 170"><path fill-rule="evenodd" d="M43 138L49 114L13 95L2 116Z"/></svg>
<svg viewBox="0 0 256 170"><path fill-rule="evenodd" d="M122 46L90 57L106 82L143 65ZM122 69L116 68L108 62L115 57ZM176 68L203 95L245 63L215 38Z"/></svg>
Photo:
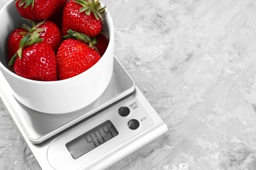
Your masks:
<svg viewBox="0 0 256 170"><path fill-rule="evenodd" d="M77 159L90 150L100 146L100 144L106 143L106 141L116 137L116 135L118 135L116 127L110 120L107 120L67 143L66 148L68 148L72 157Z"/></svg>

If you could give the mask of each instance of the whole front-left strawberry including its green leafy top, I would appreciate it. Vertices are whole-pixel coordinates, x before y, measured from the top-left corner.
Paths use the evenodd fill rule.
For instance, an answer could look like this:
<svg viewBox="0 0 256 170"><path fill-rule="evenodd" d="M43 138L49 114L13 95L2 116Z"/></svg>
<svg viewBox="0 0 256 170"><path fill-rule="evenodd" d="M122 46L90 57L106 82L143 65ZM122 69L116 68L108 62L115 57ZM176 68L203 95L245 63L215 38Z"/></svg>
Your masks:
<svg viewBox="0 0 256 170"><path fill-rule="evenodd" d="M22 25L24 30L28 29L26 26ZM16 54L9 61L9 66L14 65L14 72L24 78L43 81L58 80L53 48L39 38L38 32L45 31L45 28L31 30L19 32L24 37L18 44Z"/></svg>

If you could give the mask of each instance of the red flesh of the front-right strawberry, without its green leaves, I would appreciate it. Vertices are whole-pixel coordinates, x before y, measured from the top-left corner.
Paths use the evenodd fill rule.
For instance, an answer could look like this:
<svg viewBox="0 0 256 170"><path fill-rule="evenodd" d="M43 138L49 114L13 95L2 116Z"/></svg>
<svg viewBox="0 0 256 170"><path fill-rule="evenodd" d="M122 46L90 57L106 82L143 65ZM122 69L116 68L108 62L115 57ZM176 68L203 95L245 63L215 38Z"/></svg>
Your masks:
<svg viewBox="0 0 256 170"><path fill-rule="evenodd" d="M60 80L83 73L100 59L98 52L84 42L66 39L60 44L56 55Z"/></svg>

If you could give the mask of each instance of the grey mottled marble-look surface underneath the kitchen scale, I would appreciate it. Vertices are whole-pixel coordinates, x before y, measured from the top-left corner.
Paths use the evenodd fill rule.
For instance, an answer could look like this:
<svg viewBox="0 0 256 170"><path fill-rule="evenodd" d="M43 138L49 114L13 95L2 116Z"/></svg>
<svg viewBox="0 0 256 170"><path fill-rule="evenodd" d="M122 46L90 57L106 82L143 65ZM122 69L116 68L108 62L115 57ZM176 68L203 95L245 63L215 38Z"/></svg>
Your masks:
<svg viewBox="0 0 256 170"><path fill-rule="evenodd" d="M256 1L102 2L117 58L169 128L108 169L256 169ZM40 169L1 101L0 169Z"/></svg>

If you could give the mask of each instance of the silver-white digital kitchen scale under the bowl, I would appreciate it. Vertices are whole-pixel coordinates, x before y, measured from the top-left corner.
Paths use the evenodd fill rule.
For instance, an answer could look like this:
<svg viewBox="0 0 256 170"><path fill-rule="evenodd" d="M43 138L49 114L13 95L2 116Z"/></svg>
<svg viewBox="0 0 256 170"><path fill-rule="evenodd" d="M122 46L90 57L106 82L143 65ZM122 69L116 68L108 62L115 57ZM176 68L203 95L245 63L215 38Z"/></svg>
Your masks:
<svg viewBox="0 0 256 170"><path fill-rule="evenodd" d="M67 114L29 109L1 72L0 82L0 97L42 169L105 169L167 131L116 57L104 93Z"/></svg>

